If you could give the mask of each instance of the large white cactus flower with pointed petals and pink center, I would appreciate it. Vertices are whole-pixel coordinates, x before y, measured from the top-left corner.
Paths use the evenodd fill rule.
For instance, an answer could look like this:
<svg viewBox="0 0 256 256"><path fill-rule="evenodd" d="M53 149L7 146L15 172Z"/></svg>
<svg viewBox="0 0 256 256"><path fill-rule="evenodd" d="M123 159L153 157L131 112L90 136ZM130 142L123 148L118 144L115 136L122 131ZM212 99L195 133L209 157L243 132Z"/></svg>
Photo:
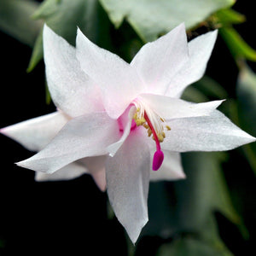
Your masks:
<svg viewBox="0 0 256 256"><path fill-rule="evenodd" d="M67 177L72 169L73 176L90 172L101 182L106 175L113 211L137 241L148 222L150 176L184 177L179 152L229 150L255 141L216 109L222 101L180 99L201 79L216 38L217 31L207 32L188 43L181 24L145 44L129 64L79 30L73 48L44 26L46 76L58 111L3 128L39 150L18 165Z"/></svg>

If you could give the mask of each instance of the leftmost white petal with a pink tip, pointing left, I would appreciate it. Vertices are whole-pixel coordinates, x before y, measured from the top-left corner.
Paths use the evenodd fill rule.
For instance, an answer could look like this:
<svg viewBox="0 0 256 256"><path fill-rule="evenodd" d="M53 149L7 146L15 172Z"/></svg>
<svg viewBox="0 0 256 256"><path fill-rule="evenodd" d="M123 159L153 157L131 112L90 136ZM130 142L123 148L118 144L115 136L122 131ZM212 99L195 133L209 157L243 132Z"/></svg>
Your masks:
<svg viewBox="0 0 256 256"><path fill-rule="evenodd" d="M32 151L39 151L55 137L67 121L67 115L55 112L10 125L0 131L23 147Z"/></svg>

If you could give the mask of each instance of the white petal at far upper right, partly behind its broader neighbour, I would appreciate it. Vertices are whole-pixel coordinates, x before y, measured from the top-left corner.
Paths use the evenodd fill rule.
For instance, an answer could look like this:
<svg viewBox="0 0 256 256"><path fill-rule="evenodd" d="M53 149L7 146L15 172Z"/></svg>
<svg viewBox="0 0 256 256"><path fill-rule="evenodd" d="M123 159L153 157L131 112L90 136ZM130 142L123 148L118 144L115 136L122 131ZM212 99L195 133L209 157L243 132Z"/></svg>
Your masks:
<svg viewBox="0 0 256 256"><path fill-rule="evenodd" d="M183 90L201 79L217 38L217 31L207 32L189 42L189 61L170 81L166 96L180 97Z"/></svg>

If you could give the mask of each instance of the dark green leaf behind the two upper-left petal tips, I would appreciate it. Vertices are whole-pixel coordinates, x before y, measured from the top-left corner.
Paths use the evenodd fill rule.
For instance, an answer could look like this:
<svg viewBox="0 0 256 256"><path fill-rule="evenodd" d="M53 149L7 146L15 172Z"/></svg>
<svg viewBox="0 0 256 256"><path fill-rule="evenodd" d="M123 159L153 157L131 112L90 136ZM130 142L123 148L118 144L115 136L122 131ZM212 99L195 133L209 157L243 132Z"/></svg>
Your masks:
<svg viewBox="0 0 256 256"><path fill-rule="evenodd" d="M109 48L110 22L101 5L95 0L46 0L34 13L34 19L44 20L62 38L75 44L77 27L90 40ZM31 71L43 57L42 34L38 36L28 70Z"/></svg>

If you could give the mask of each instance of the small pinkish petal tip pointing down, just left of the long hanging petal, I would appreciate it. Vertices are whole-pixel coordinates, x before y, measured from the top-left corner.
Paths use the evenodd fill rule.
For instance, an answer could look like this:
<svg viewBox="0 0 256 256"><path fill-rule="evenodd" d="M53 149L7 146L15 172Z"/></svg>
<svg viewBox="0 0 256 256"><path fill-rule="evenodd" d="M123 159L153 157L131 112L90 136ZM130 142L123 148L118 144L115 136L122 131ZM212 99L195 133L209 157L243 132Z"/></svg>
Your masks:
<svg viewBox="0 0 256 256"><path fill-rule="evenodd" d="M100 155L78 160L79 163L87 167L88 172L93 177L96 185L102 191L105 191L107 188L105 171L106 158L106 155Z"/></svg>

